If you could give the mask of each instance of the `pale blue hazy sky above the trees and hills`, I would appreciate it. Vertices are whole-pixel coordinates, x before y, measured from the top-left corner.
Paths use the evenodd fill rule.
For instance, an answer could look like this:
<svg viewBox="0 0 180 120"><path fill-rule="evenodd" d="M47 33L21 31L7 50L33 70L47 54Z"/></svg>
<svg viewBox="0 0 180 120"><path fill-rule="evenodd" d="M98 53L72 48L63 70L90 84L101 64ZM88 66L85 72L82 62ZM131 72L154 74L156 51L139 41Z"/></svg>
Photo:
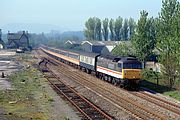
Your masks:
<svg viewBox="0 0 180 120"><path fill-rule="evenodd" d="M0 0L0 28L79 31L89 17L137 20L142 10L157 17L161 5L161 0Z"/></svg>

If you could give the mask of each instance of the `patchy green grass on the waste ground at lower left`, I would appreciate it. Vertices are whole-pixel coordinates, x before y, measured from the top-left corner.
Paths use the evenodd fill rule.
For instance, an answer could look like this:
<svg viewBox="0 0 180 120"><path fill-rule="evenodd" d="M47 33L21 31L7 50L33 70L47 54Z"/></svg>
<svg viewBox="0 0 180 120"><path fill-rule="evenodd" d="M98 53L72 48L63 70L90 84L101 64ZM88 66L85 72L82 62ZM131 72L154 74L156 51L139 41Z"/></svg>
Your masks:
<svg viewBox="0 0 180 120"><path fill-rule="evenodd" d="M9 78L14 90L0 91L0 106L5 109L5 117L8 120L14 117L17 120L48 120L48 116L38 110L34 96L36 92L43 92L40 87L43 76L40 72L32 68ZM43 98L48 102L51 97Z"/></svg>

